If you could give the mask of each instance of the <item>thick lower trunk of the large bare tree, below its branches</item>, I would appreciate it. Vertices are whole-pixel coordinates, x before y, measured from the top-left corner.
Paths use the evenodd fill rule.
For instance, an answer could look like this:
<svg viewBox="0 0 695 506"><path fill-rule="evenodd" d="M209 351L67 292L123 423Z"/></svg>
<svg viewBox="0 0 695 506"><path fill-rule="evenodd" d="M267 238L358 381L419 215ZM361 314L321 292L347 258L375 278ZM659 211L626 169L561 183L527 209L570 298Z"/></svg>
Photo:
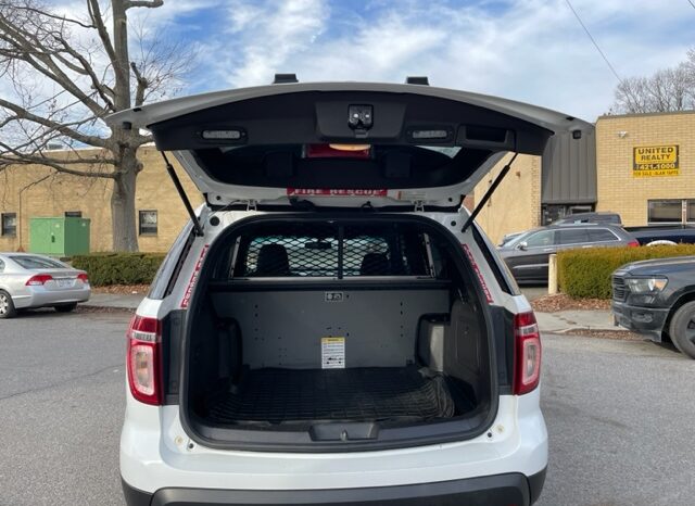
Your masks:
<svg viewBox="0 0 695 506"><path fill-rule="evenodd" d="M111 194L111 228L113 251L138 251L135 216L135 190L140 162L132 148L119 153L113 193Z"/></svg>

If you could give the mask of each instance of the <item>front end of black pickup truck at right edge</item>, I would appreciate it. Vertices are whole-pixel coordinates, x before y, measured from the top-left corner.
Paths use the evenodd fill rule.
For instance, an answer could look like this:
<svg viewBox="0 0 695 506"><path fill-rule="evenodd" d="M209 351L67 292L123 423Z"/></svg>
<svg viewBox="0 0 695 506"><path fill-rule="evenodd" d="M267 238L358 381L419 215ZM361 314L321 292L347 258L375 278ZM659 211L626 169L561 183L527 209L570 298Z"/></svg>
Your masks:
<svg viewBox="0 0 695 506"><path fill-rule="evenodd" d="M695 358L695 256L633 262L612 274L616 325Z"/></svg>

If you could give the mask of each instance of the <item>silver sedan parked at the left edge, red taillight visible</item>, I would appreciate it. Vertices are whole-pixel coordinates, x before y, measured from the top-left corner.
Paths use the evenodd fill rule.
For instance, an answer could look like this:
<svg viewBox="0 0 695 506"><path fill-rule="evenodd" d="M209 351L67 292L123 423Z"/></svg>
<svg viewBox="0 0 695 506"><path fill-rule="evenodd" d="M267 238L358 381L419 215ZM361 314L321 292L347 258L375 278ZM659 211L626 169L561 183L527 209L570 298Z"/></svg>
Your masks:
<svg viewBox="0 0 695 506"><path fill-rule="evenodd" d="M36 307L68 313L90 293L84 270L34 253L0 253L0 318Z"/></svg>

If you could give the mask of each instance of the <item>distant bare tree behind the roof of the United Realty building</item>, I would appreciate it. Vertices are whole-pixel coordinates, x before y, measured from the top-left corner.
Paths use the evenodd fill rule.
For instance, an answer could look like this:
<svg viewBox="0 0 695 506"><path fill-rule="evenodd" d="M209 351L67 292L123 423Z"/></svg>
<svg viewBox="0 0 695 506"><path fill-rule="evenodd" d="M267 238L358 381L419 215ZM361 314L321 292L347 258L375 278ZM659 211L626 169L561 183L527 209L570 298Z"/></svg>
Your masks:
<svg viewBox="0 0 695 506"><path fill-rule="evenodd" d="M687 60L649 77L630 77L616 88L611 113L662 113L695 109L695 49Z"/></svg>

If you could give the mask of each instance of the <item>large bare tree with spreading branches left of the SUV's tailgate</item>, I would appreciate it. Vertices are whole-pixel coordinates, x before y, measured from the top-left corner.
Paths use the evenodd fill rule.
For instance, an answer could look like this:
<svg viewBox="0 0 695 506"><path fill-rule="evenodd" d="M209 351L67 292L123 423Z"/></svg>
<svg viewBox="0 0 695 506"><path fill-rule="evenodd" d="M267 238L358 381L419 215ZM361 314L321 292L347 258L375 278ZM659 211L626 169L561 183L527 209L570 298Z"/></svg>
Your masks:
<svg viewBox="0 0 695 506"><path fill-rule="evenodd" d="M151 138L110 129L103 118L170 92L190 54L144 37L129 46L128 11L159 8L163 0L111 0L110 12L99 0L85 0L81 16L40 1L0 0L0 89L10 91L0 94L0 170L40 164L111 179L113 249L137 251L138 149ZM67 153L53 151L56 144ZM77 150L83 147L96 150Z"/></svg>

